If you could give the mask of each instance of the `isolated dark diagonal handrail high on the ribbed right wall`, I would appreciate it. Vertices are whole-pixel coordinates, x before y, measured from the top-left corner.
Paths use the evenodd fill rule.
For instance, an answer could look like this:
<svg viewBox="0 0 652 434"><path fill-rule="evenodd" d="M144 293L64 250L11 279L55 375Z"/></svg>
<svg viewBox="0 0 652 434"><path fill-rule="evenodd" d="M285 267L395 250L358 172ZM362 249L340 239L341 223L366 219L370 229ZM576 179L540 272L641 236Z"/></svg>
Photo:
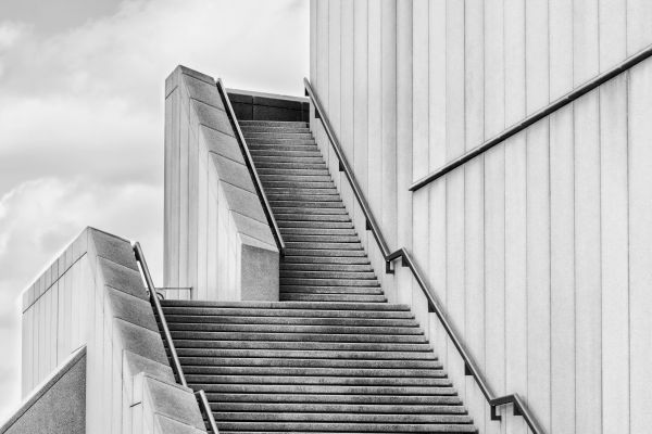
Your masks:
<svg viewBox="0 0 652 434"><path fill-rule="evenodd" d="M453 159L450 163L447 163L446 165L441 166L437 170L426 175L422 179L416 180L412 186L410 186L409 190L416 191L416 190L421 189L422 187L425 187L428 183L435 181L436 179L441 178L449 171L454 170L455 168L469 162L471 159L475 158L476 156L487 152L488 150L496 146L497 144L504 142L509 138L525 130L527 127L531 126L532 124L536 124L539 120L543 119L544 117L550 116L552 113L570 104L573 101L575 101L578 98L580 98L581 95L597 89L601 85L604 85L606 81L609 81L612 78L616 77L617 75L624 73L625 71L631 68L632 66L641 63L642 61L650 58L651 55L652 55L652 46L647 47L645 49L639 51L631 58L625 60L624 62L619 63L618 65L614 66L613 68L600 74L595 78L590 79L589 81L585 82L584 85L579 86L578 88L574 89L573 91L566 93L564 97L560 98L559 100L551 102L543 108L532 113L531 115L529 115L522 122L511 126L510 128L505 129L498 136L487 140L485 143L480 144L479 146L472 149L467 153L459 156L457 158Z"/></svg>

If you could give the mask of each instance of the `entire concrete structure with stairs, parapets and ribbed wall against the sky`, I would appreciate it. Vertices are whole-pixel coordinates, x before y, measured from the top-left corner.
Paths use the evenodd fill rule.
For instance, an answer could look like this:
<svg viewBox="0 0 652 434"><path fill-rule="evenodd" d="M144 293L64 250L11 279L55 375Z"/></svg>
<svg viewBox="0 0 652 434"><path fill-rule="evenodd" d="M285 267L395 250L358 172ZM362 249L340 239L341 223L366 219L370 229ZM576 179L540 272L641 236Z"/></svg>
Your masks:
<svg viewBox="0 0 652 434"><path fill-rule="evenodd" d="M305 98L170 75L163 288L85 230L0 433L647 432L652 7L310 12Z"/></svg>

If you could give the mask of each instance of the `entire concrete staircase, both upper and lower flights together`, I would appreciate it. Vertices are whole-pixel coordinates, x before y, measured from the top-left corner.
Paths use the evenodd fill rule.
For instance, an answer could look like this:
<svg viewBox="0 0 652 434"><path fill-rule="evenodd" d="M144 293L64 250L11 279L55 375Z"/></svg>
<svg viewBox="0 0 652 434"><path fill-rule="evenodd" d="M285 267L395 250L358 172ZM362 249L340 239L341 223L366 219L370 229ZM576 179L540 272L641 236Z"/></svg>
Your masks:
<svg viewBox="0 0 652 434"><path fill-rule="evenodd" d="M386 303L308 125L240 125L287 245L281 302L163 302L221 433L477 432L410 307Z"/></svg>

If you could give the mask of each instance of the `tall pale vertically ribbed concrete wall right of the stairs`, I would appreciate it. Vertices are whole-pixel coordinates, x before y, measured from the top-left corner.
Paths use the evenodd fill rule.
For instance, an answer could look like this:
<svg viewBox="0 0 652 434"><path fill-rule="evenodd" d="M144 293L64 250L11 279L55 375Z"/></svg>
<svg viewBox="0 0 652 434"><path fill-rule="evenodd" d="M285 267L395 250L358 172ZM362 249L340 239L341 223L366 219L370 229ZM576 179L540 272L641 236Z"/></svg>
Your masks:
<svg viewBox="0 0 652 434"><path fill-rule="evenodd" d="M492 387L549 433L652 423L652 61L408 188L645 48L651 17L647 1L311 2L311 81L390 247L414 253ZM511 411L489 420L404 270L384 285L429 328L480 432L526 432Z"/></svg>

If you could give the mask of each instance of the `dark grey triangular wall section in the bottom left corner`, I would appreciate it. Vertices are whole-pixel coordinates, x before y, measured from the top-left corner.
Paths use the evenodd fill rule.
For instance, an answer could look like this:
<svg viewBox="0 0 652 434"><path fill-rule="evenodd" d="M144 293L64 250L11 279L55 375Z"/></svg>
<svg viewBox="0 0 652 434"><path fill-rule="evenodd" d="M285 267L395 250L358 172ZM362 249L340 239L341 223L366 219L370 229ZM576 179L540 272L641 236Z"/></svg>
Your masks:
<svg viewBox="0 0 652 434"><path fill-rule="evenodd" d="M0 433L86 433L86 348L68 357L0 426Z"/></svg>

